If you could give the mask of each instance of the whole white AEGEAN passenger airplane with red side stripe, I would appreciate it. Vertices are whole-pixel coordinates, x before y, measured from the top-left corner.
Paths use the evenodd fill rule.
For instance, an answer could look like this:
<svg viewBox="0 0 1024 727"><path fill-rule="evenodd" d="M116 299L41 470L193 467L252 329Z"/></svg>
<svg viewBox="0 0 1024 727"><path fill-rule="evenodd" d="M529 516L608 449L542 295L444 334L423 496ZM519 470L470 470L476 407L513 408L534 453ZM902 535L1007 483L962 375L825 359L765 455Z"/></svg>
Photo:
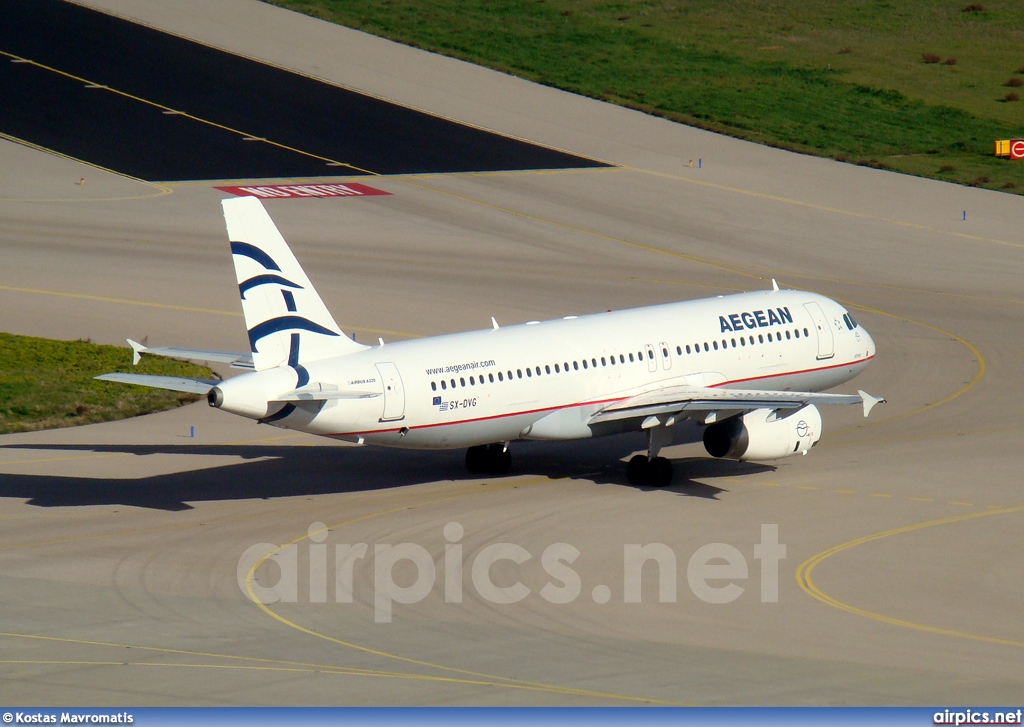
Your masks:
<svg viewBox="0 0 1024 727"><path fill-rule="evenodd" d="M820 393L862 372L874 342L839 303L771 291L633 310L569 315L367 346L335 323L256 198L222 202L249 353L147 348L141 354L220 361L223 380L136 374L97 378L203 394L263 424L359 444L468 447L471 472L503 474L509 442L647 434L630 482L664 486L672 443L702 440L714 457L807 454L818 404L884 399Z"/></svg>

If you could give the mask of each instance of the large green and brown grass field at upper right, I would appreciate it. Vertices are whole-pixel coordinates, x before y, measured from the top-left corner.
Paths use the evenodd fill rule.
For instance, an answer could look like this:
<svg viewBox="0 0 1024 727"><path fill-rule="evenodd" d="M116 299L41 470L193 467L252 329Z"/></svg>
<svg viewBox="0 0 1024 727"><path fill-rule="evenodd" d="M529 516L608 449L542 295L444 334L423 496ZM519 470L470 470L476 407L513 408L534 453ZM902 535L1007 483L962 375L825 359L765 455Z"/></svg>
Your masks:
<svg viewBox="0 0 1024 727"><path fill-rule="evenodd" d="M1024 78L1015 0L270 1L732 136L1024 193L1024 162L992 156L1024 136L1024 101L1000 100Z"/></svg>

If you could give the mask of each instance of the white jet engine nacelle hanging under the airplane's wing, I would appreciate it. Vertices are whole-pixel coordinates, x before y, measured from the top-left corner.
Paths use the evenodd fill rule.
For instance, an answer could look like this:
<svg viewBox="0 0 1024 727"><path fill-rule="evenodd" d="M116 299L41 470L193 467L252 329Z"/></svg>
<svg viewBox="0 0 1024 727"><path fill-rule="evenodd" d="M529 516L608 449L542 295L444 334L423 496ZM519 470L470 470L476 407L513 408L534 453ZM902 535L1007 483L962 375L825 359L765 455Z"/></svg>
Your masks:
<svg viewBox="0 0 1024 727"><path fill-rule="evenodd" d="M705 448L712 457L730 460L778 460L806 455L821 438L821 415L813 404L784 419L759 409L705 429Z"/></svg>

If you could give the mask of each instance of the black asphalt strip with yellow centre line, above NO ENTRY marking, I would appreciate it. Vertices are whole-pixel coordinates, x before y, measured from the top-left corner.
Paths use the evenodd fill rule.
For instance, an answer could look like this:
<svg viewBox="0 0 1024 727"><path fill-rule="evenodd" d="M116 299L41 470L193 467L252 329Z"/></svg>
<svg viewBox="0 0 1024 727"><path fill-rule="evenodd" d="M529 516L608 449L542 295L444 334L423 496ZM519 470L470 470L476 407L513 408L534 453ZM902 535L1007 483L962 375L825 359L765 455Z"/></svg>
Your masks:
<svg viewBox="0 0 1024 727"><path fill-rule="evenodd" d="M0 59L0 133L150 181L605 166L62 0Z"/></svg>

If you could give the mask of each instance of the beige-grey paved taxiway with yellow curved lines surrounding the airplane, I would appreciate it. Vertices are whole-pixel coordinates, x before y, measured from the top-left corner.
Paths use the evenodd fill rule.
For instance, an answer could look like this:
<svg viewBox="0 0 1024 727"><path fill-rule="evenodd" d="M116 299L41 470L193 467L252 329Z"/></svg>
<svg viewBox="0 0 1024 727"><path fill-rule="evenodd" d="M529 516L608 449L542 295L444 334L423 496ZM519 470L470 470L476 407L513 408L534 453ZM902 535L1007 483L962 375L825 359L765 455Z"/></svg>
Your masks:
<svg viewBox="0 0 1024 727"><path fill-rule="evenodd" d="M1019 701L1024 200L759 147L248 0L94 4L618 165L382 176L388 197L268 201L361 339L775 277L855 311L879 352L848 389L889 403L866 421L825 411L806 458L735 464L674 447L679 480L665 490L626 484L639 436L519 444L509 476L482 480L459 452L338 445L205 404L0 437L5 701ZM0 329L245 350L220 197L0 141ZM777 602L756 557L772 525L785 546ZM461 602L445 601L453 539ZM528 589L515 603L484 598L470 572L503 543L530 555L492 571ZM260 544L282 550L251 569ZM424 549L429 595L378 623L370 556L336 549L358 544ZM543 567L557 544L580 553L572 598ZM626 552L642 544L671 553L675 588L663 593L648 564L641 602L627 602ZM726 580L742 589L729 603L701 600L687 578L709 544L746 566ZM354 562L351 602L339 562ZM409 565L396 586L413 587ZM287 573L294 599L252 598Z"/></svg>

